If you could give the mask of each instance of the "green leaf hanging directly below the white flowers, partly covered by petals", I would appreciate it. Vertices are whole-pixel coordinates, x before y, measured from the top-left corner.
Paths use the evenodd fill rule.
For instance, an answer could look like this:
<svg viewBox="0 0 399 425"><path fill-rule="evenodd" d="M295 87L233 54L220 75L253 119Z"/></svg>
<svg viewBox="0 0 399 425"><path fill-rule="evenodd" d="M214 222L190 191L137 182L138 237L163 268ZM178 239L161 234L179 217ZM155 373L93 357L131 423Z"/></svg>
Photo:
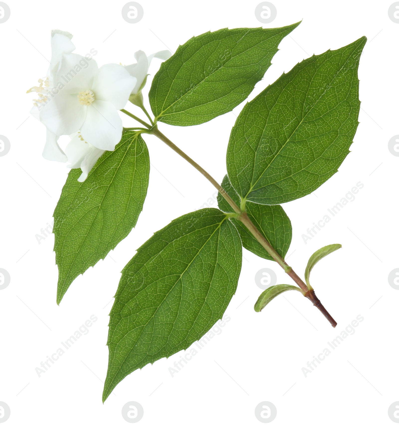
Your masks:
<svg viewBox="0 0 399 425"><path fill-rule="evenodd" d="M73 280L105 258L136 225L150 173L147 145L137 133L125 133L83 183L77 181L80 173L69 172L54 210L58 304Z"/></svg>

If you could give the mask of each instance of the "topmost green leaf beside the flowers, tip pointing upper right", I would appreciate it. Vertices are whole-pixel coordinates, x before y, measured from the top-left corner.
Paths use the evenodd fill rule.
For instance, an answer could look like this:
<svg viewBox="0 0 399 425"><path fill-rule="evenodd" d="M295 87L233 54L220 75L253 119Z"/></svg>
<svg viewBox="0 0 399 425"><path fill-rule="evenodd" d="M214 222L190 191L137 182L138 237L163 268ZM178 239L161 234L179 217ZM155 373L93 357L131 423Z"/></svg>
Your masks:
<svg viewBox="0 0 399 425"><path fill-rule="evenodd" d="M263 78L280 41L299 25L235 28L192 37L162 63L149 98L158 121L197 125L232 111Z"/></svg>

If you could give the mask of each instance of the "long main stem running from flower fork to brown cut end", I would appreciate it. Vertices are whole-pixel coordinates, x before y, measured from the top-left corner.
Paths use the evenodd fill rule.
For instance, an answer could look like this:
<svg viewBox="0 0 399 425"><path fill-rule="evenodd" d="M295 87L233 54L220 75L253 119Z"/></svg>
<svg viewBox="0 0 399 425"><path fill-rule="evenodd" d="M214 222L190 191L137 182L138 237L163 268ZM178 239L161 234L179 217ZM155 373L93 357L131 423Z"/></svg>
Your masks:
<svg viewBox="0 0 399 425"><path fill-rule="evenodd" d="M221 185L204 170L199 164L197 164L193 159L190 158L186 153L184 153L180 148L178 148L172 141L170 141L163 133L161 133L158 128L153 128L151 133L154 136L157 136L158 139L161 139L162 142L167 144L170 148L172 148L178 155L184 158L187 162L189 162L196 170L198 170L207 180L209 180L213 186L219 191L219 193L226 199L232 209L238 214L237 220L240 220L245 227L252 233L255 239L263 246L264 249L272 256L274 261L276 261L280 266L284 269L284 271L289 275L289 277L294 280L295 283L302 289L305 297L312 301L314 306L316 306L327 318L327 320L331 323L331 325L335 328L337 326L337 322L331 317L331 315L324 308L320 300L314 294L314 290L306 286L306 283L294 272L294 270L286 263L284 258L273 248L273 246L269 243L269 241L260 233L258 228L252 223L249 219L247 213L242 211L240 207L233 201L233 199L229 196L226 190L221 187ZM244 204L245 206L245 204Z"/></svg>

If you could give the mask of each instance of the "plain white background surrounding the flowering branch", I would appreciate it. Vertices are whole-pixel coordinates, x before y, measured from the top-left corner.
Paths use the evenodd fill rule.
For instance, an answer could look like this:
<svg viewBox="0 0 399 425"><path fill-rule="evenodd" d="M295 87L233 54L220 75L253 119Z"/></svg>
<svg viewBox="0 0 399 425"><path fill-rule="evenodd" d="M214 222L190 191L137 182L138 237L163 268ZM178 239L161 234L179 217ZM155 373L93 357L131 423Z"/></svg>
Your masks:
<svg viewBox="0 0 399 425"><path fill-rule="evenodd" d="M388 17L392 2L274 0L277 18L264 27L303 22L280 43L273 65L249 96L312 54L368 37L360 59L362 109L352 152L314 194L283 205L293 227L288 262L298 274L303 275L316 249L342 244L311 276L337 328L297 292L287 292L255 313L259 269L273 269L278 283L291 282L276 263L244 250L238 290L226 311L231 320L223 332L173 377L168 368L182 353L133 372L104 405L108 314L120 271L153 232L198 209L215 189L158 139L144 136L152 168L136 228L104 261L76 278L57 306L54 235L40 244L35 235L51 221L68 169L42 158L45 127L29 117L32 95L25 91L46 74L53 28L74 34L76 53L95 48L99 65L127 65L135 62L133 53L139 49L147 54L167 47L175 51L209 30L258 27L254 10L259 1L141 0L144 17L136 24L122 19L126 1L6 3L11 17L0 24L0 133L10 140L11 150L0 157L0 268L10 273L11 283L0 291L0 401L11 408L7 423L124 424L121 409L129 401L143 406L143 425L257 424L255 406L262 401L277 407L276 425L393 423L388 407L399 399L399 291L389 286L388 274L399 267L399 157L389 152L388 140L399 133L399 24ZM154 59L151 75L159 63ZM200 126L159 128L221 181L229 133L242 106ZM127 108L139 114L133 105ZM132 125L128 117L123 120ZM364 188L355 201L305 244L301 235L306 229L358 181ZM90 332L38 377L40 362L92 314L98 320ZM359 314L364 321L355 334L304 377L306 362Z"/></svg>

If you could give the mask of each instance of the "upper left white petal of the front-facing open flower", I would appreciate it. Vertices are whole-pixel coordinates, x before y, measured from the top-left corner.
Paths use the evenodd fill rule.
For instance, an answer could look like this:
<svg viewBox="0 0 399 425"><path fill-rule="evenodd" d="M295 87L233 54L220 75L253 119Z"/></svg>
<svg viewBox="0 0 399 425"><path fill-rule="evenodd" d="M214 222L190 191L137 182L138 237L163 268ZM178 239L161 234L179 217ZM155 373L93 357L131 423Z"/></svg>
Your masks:
<svg viewBox="0 0 399 425"><path fill-rule="evenodd" d="M97 71L98 66L94 59L87 60L76 53L63 54L54 85L62 83L63 94L78 94L84 90L91 90Z"/></svg>

